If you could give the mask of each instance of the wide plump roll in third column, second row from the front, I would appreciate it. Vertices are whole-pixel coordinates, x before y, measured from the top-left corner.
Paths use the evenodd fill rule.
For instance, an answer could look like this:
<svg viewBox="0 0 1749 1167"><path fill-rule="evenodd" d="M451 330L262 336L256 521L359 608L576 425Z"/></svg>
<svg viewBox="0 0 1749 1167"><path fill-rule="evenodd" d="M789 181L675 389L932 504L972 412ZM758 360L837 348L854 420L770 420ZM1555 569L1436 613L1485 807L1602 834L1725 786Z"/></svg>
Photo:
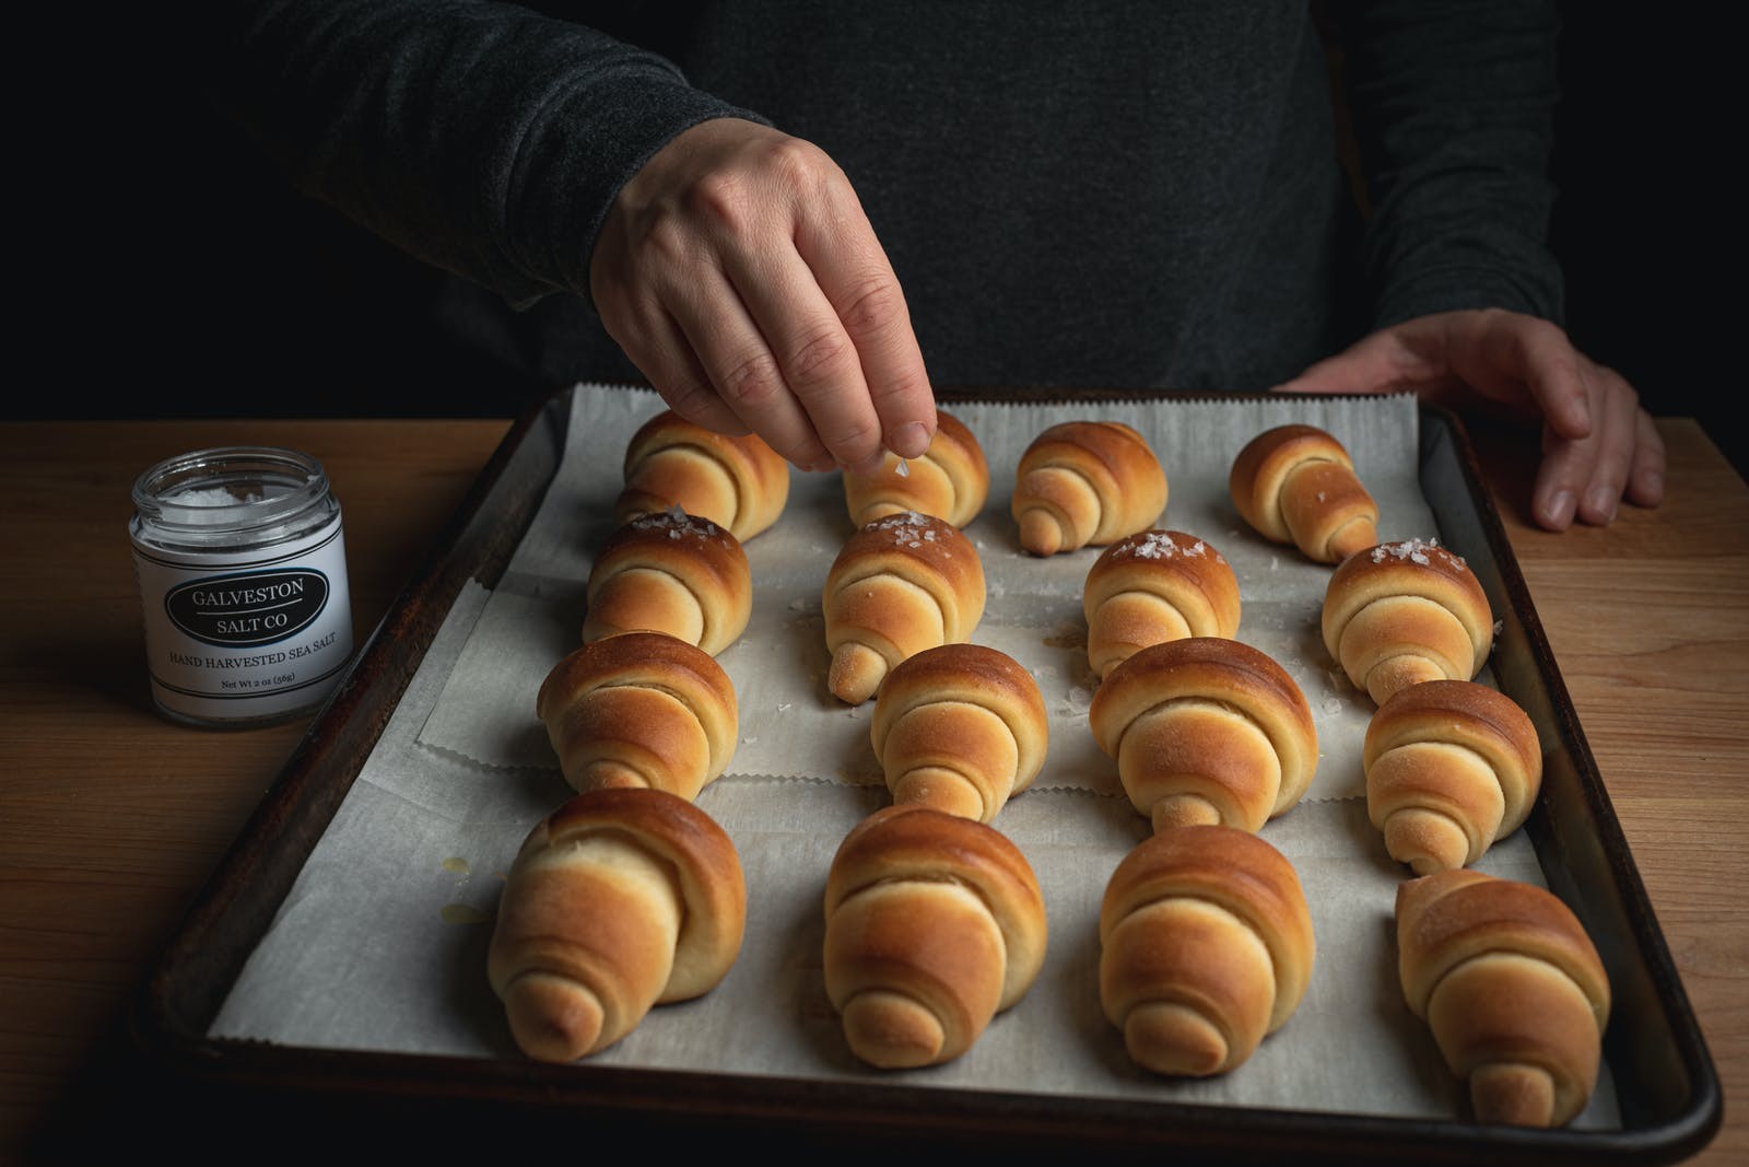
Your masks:
<svg viewBox="0 0 1749 1167"><path fill-rule="evenodd" d="M1135 653L1093 691L1088 724L1156 831L1258 831L1317 770L1317 724L1294 679L1240 640L1188 637Z"/></svg>

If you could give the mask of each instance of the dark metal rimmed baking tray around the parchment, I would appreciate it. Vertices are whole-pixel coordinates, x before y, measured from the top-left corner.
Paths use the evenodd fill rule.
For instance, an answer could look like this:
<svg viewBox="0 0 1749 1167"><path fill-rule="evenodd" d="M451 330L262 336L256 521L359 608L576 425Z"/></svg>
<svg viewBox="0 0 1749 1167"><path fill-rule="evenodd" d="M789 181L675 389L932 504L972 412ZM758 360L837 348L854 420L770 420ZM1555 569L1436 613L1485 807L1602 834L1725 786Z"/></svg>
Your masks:
<svg viewBox="0 0 1749 1167"><path fill-rule="evenodd" d="M1077 401L1100 397L1079 392ZM1111 399L1135 399L1111 392ZM1016 399L1016 392L1004 392ZM1020 392L1053 401L1060 392ZM1160 399L1172 395L1161 394ZM941 392L943 404L986 401ZM1698 1151L1721 1118L1718 1076L1670 961L1607 791L1543 635L1529 590L1462 423L1420 406L1420 483L1448 546L1462 548L1504 635L1499 688L1532 716L1546 747L1537 808L1525 826L1550 887L1595 940L1614 990L1604 1057L1620 1129L1516 1130L1462 1120L1086 1099L778 1076L700 1074L523 1059L458 1059L301 1048L212 1036L250 952L469 581L502 574L565 453L567 394L518 418L413 584L383 618L345 684L166 947L133 1008L135 1041L164 1073L261 1099L325 1097L350 1115L388 1101L514 1116L523 1136L563 1137L575 1123L628 1137L749 1146L943 1144L1025 1157L1174 1151L1198 1162L1667 1164ZM269 1102L271 1104L271 1102ZM458 1109L460 1108L460 1109ZM449 1123L446 1122L446 1127Z"/></svg>

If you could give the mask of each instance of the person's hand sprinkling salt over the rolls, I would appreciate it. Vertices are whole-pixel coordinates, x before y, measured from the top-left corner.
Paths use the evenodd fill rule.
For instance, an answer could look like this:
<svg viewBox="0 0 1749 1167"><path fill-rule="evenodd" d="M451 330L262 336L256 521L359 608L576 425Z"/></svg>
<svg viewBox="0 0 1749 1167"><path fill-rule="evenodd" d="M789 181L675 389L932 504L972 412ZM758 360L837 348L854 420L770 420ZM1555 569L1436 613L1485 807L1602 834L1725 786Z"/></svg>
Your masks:
<svg viewBox="0 0 1749 1167"><path fill-rule="evenodd" d="M609 336L682 416L803 469L920 457L936 401L850 180L742 119L675 136L621 189L589 261Z"/></svg>

